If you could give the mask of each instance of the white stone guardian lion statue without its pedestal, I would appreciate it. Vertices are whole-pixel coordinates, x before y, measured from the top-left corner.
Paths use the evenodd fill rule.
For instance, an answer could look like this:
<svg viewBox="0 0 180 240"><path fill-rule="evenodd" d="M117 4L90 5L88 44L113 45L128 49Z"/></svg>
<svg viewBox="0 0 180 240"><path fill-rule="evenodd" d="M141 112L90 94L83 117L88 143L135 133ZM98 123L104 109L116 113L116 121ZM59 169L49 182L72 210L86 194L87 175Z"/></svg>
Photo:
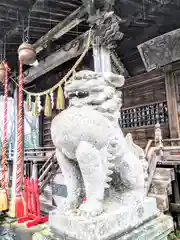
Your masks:
<svg viewBox="0 0 180 240"><path fill-rule="evenodd" d="M65 85L69 107L52 121L51 134L67 186L66 212L98 216L112 201L133 207L144 197L142 163L118 124L116 88L123 84L121 75L83 70Z"/></svg>

